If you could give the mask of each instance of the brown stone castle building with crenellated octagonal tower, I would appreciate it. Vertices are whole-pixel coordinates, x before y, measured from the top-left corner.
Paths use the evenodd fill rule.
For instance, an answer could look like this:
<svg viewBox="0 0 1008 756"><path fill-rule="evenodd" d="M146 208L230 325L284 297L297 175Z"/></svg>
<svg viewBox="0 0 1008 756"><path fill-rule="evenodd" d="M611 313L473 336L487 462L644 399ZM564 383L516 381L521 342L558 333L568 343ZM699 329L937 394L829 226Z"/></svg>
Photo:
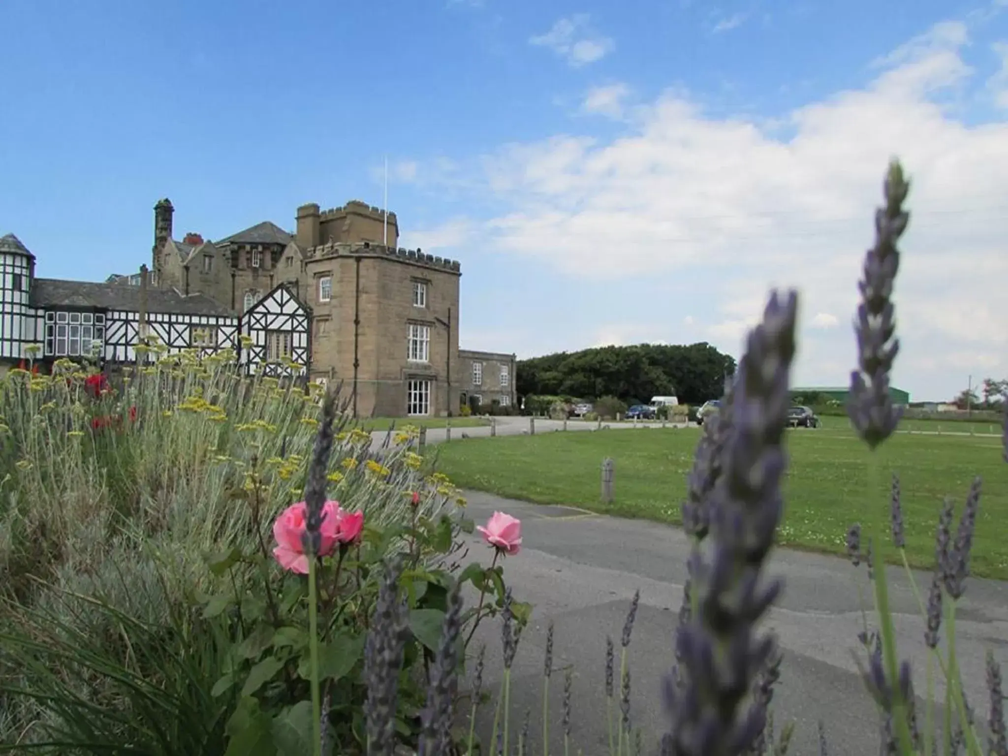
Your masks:
<svg viewBox="0 0 1008 756"><path fill-rule="evenodd" d="M260 302L285 288L308 312L308 377L342 384L358 416L458 414L474 399L514 405L514 355L460 352L459 262L399 248L394 213L310 204L292 232L264 221L217 241L176 240L173 216L167 199L154 206L151 288L211 300L239 320L269 311ZM258 320L265 357L289 359L292 338Z"/></svg>

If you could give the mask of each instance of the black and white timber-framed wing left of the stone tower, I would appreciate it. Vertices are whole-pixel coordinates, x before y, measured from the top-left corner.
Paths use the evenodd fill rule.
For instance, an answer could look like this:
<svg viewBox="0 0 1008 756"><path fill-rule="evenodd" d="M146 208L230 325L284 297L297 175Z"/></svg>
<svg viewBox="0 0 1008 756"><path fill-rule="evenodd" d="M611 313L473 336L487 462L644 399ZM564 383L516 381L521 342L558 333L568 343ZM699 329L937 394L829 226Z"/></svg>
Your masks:
<svg viewBox="0 0 1008 756"><path fill-rule="evenodd" d="M173 288L35 278L34 264L17 237L0 238L0 363L62 357L128 363L145 335L167 354L227 352L248 373L263 365L268 375L290 375L288 361L301 366L295 374L307 372L310 316L282 284L239 318L208 296ZM242 348L239 334L250 348Z"/></svg>

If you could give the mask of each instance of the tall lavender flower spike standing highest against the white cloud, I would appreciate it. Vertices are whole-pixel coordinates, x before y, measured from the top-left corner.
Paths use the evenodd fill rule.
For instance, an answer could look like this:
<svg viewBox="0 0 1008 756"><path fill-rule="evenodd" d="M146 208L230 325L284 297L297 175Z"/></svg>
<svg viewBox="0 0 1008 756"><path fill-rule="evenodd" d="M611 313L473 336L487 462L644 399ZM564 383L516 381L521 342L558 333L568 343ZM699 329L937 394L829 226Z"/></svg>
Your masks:
<svg viewBox="0 0 1008 756"><path fill-rule="evenodd" d="M899 340L893 338L892 289L899 269L896 242L910 218L903 210L909 191L902 167L893 161L885 180L885 207L875 213L875 246L865 255L864 277L858 282L861 304L854 326L858 370L851 374L847 413L858 435L872 449L892 435L902 415L889 395L889 373L899 352Z"/></svg>

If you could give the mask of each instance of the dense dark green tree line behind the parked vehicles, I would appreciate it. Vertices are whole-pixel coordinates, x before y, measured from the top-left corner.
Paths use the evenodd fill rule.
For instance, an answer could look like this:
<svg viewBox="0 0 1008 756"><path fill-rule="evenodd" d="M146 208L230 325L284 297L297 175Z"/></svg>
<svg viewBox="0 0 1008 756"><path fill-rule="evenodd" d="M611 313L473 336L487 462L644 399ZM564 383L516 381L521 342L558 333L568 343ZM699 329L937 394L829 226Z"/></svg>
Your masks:
<svg viewBox="0 0 1008 756"><path fill-rule="evenodd" d="M520 396L570 396L595 400L650 401L677 396L680 403L702 404L720 398L725 376L735 372L735 358L707 342L689 346L639 344L558 352L517 365Z"/></svg>

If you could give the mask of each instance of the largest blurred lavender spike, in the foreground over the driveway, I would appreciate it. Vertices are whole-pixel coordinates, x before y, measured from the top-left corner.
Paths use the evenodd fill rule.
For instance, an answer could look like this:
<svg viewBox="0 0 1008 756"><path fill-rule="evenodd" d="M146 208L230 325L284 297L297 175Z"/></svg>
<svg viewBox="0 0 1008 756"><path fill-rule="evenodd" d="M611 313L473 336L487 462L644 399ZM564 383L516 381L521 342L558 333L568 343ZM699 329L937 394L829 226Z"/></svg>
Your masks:
<svg viewBox="0 0 1008 756"><path fill-rule="evenodd" d="M742 707L775 651L773 637L757 635L756 626L782 588L779 580L766 583L762 572L783 508L796 312L795 292L774 292L739 362L722 475L711 498L713 553L691 557L700 611L676 633L685 681L679 687L669 674L663 685L670 728L662 747L672 756L737 756L766 722L760 707Z"/></svg>

